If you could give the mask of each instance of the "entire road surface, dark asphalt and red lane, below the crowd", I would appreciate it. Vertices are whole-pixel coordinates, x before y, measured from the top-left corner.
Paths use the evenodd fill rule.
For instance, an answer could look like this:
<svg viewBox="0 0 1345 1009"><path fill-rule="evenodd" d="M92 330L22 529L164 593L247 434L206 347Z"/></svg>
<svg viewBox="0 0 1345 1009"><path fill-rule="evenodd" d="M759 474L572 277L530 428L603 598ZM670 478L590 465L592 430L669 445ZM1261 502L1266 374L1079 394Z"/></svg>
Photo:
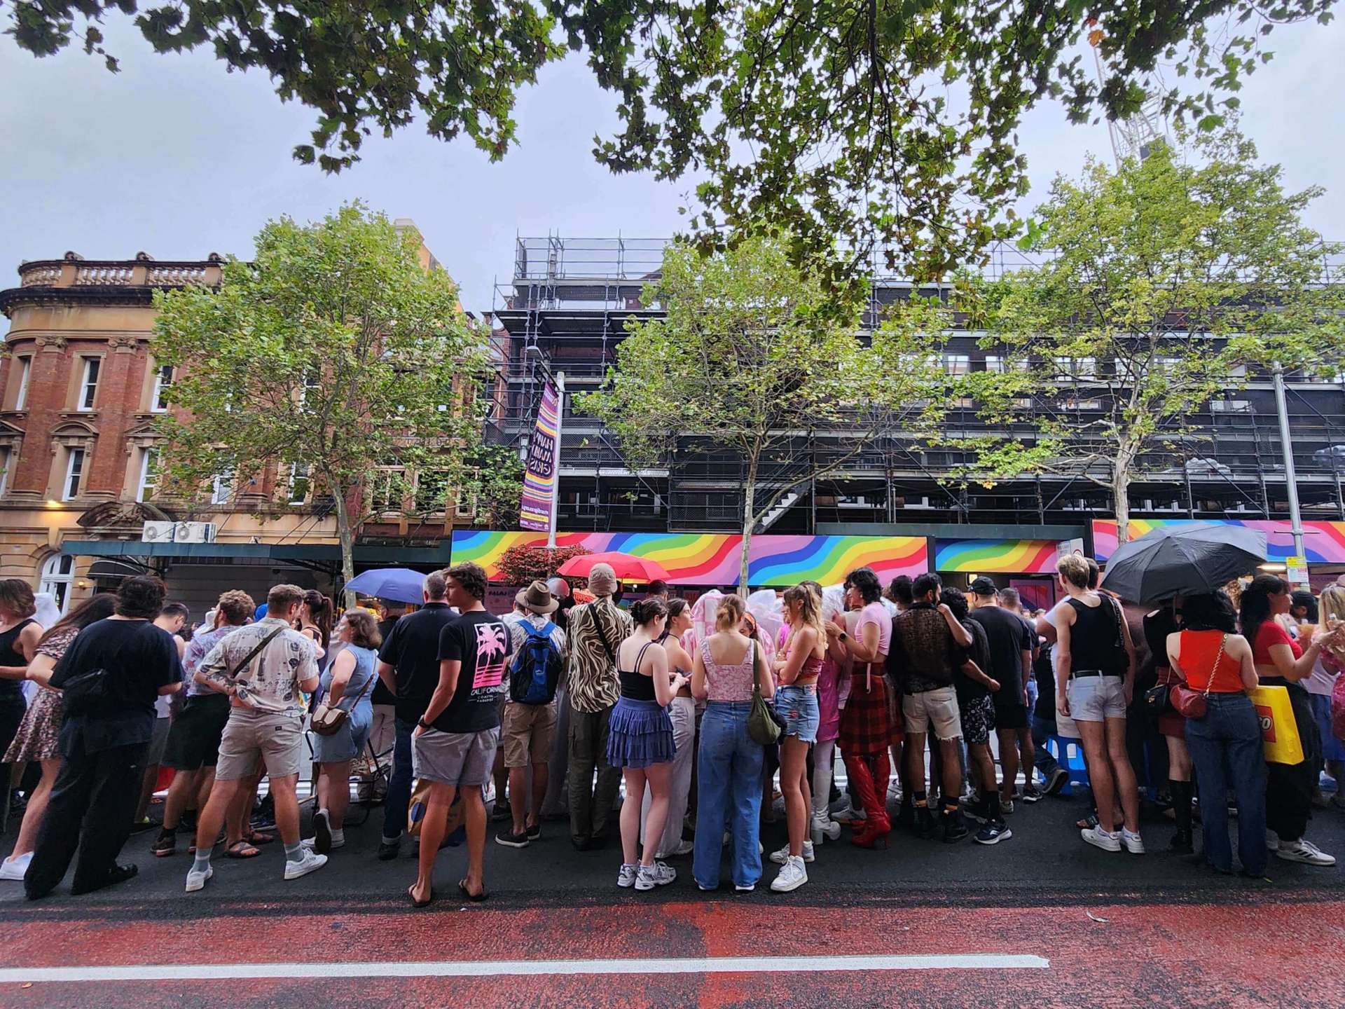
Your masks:
<svg viewBox="0 0 1345 1009"><path fill-rule="evenodd" d="M272 845L217 857L195 895L186 853L153 858L141 834L120 888L30 904L0 884L0 1005L1345 1005L1340 868L1219 876L1167 854L1162 819L1150 854L1110 854L1079 841L1081 810L1020 806L994 848L842 838L790 895L701 893L689 858L670 887L619 889L615 846L577 853L546 823L488 845L484 904L455 899L465 849L441 852L428 911L405 897L409 848L374 857L379 811L312 876L282 881ZM1309 837L1345 856L1345 813Z"/></svg>

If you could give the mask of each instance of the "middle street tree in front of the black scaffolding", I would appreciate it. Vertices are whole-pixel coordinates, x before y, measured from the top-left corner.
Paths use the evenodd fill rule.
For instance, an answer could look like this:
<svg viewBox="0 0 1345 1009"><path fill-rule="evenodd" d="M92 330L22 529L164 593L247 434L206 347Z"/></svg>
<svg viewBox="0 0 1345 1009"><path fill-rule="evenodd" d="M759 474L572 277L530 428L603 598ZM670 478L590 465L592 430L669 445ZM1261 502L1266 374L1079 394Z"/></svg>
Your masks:
<svg viewBox="0 0 1345 1009"><path fill-rule="evenodd" d="M577 406L632 465L697 449L742 460L744 565L757 522L791 490L841 472L898 425L932 425L946 405L943 308L917 299L861 338L863 299L794 269L783 242L709 257L674 244L646 297L664 317L628 324L608 387Z"/></svg>

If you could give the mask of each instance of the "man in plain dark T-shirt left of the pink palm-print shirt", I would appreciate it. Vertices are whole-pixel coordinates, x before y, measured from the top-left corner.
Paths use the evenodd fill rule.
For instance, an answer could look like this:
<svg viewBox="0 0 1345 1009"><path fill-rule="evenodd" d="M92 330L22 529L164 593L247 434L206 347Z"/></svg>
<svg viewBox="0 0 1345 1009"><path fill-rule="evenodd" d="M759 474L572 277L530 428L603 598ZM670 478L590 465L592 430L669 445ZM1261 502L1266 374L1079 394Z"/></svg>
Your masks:
<svg viewBox="0 0 1345 1009"><path fill-rule="evenodd" d="M397 735L393 744L393 775L383 803L383 831L378 857L391 861L402 845L412 800L412 736L438 686L438 639L456 618L445 599L448 580L436 570L421 583L425 604L395 623L378 652L378 679L397 698Z"/></svg>

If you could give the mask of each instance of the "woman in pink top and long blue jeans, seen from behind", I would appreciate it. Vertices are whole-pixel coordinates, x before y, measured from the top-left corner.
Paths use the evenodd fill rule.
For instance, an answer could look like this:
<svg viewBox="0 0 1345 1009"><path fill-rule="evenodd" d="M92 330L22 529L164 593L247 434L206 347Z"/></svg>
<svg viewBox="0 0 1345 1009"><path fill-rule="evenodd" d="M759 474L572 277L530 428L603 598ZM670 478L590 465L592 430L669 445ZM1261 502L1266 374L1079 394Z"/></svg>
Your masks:
<svg viewBox="0 0 1345 1009"><path fill-rule="evenodd" d="M725 819L733 888L756 889L761 879L761 770L765 748L748 735L753 682L761 697L775 696L775 678L757 643L738 626L746 613L741 596L720 599L714 634L699 642L691 669L691 693L705 701L701 718L695 796L695 852L691 874L703 891L720 888Z"/></svg>

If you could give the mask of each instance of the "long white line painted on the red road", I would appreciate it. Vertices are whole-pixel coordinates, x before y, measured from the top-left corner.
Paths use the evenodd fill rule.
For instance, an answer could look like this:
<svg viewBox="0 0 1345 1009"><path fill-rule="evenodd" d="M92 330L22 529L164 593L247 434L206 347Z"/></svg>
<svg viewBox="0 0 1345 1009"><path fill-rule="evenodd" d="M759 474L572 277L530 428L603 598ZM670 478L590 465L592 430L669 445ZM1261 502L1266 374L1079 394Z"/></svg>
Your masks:
<svg viewBox="0 0 1345 1009"><path fill-rule="evenodd" d="M838 970L1045 970L1042 957L689 957L605 961L409 961L402 963L147 963L117 967L5 967L0 983L93 981L225 981L247 978L438 978L547 974L798 974Z"/></svg>

